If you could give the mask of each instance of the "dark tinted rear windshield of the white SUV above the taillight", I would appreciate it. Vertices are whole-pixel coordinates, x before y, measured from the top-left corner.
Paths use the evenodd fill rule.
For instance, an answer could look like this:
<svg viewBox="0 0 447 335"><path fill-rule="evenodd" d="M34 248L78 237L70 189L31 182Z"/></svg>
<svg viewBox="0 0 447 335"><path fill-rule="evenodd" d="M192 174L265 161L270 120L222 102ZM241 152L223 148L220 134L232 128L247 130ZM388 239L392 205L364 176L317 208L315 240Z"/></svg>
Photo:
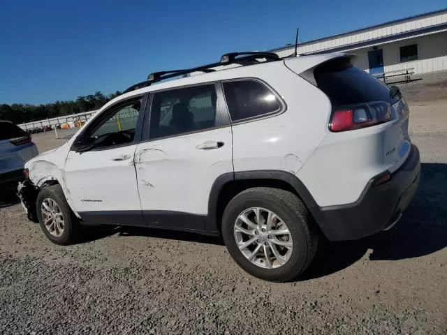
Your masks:
<svg viewBox="0 0 447 335"><path fill-rule="evenodd" d="M332 106L353 105L369 101L394 104L399 98L390 98L390 90L346 58L321 64L314 70L318 89L330 99Z"/></svg>

